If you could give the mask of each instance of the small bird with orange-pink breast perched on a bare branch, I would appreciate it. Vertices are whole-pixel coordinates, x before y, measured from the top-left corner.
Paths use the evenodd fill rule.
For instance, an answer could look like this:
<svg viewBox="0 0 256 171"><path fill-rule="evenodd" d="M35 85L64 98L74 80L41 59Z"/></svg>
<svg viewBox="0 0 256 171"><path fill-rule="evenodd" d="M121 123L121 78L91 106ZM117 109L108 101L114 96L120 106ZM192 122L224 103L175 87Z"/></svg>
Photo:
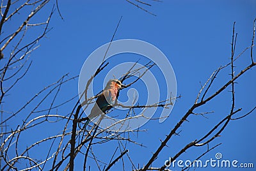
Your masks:
<svg viewBox="0 0 256 171"><path fill-rule="evenodd" d="M118 98L118 93L120 89L124 88L125 85L122 84L120 80L111 79L108 81L106 87L102 91L102 93L98 96L95 105L93 106L90 115L86 117L87 120L84 126L87 126L90 121L101 115L106 114L106 111L111 109L113 105L116 103Z"/></svg>

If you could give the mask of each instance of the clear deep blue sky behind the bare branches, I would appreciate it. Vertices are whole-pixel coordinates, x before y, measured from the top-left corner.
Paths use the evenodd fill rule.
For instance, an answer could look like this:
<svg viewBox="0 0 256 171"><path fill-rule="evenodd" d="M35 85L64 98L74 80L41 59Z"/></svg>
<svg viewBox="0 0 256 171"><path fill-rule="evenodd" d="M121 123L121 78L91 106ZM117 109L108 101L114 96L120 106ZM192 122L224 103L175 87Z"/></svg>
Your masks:
<svg viewBox="0 0 256 171"><path fill-rule="evenodd" d="M41 47L31 55L33 65L28 75L20 81L19 86L13 89L13 94L17 94L19 98L10 96L8 100L16 105L23 104L37 91L55 82L62 75L66 73L70 73L70 77L78 75L86 57L93 50L111 40L116 24L122 16L114 40L132 38L147 41L158 47L172 64L177 79L177 94L182 95L164 123L150 121L141 128L147 129L147 132L140 133L138 138L134 135L134 140L147 147L127 145L129 155L136 166L147 163L152 152L156 151L161 143L159 139L165 138L175 123L193 105L200 90L200 82L205 82L212 71L230 61L233 23L236 22L238 33L235 54L237 56L251 44L253 20L256 17L256 2L248 0L148 2L152 6L145 6L145 8L155 13L156 17L125 1L76 1L76 3L59 1L64 20L61 20L58 12L55 11L50 23L53 29L47 34L47 38L41 41ZM38 14L38 19L43 20L43 17L50 13L51 8L51 5L45 6L44 13ZM22 15L20 15L21 18ZM248 64L250 64L250 52L246 51L236 62L236 73ZM223 70L209 93L214 93L218 87L225 84L230 78L229 73L230 68ZM236 108L243 108L241 114L237 116L245 114L255 106L255 73L253 68L237 80L239 84L236 84ZM103 76L99 79L101 77L103 79ZM140 87L140 83L134 85L134 88L136 86ZM207 130L228 114L232 103L231 93L228 90L230 91L230 87L214 98L211 103L196 111L213 110L213 114L207 115L209 119L199 115L189 117L189 123L184 123L180 129L182 130L180 136L170 140L168 147L165 147L159 154L153 167L162 166L164 161L173 156L175 152L189 142L202 137ZM61 98L67 99L76 94L77 79L62 87L60 98L56 103L60 102ZM140 97L142 99L139 101L143 101L143 96ZM6 108L15 107L9 104ZM72 104L58 112L65 115L70 109L72 109ZM221 152L223 159L253 163L256 167L255 131L253 131L256 130L255 119L256 115L253 112L241 120L229 123L225 131L221 133L221 137L216 138L210 144L222 143L222 145L206 154L202 160L215 158L215 154ZM17 123L19 123L18 119L13 122L13 124ZM48 128L39 126L37 133L42 133L47 137L54 135L55 130L61 131L61 129L60 125L49 124ZM29 137L29 135L26 136ZM21 144L26 146L26 140L23 143ZM109 155L113 154L117 145L114 142L98 145L95 152L108 163ZM194 160L205 150L206 147L193 147L182 154L179 159ZM44 148L40 151L43 152ZM127 161L125 168L131 170L127 157L125 161ZM97 168L93 161L89 161L88 165ZM83 167L83 158L76 160L75 167L77 170ZM122 162L113 167L113 170L120 169L122 169ZM180 170L177 167L173 170L176 169ZM207 170L213 169L207 168ZM223 168L223 170L232 170L232 168ZM253 169L248 168L248 170Z"/></svg>

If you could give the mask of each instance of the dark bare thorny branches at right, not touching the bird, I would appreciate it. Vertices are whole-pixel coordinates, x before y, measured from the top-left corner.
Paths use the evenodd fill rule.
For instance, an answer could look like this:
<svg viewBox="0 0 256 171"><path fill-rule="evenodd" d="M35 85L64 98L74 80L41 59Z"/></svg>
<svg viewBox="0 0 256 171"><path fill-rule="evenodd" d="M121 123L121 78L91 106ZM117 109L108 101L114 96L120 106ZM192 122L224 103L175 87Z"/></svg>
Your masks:
<svg viewBox="0 0 256 171"><path fill-rule="evenodd" d="M253 61L253 47L254 47L253 41L255 39L255 20L253 22L252 44L250 45L250 47L247 47L246 49L244 49L243 52L241 52L236 57L234 56L234 52L236 49L237 33L235 34L235 23L236 22L234 22L230 63L226 64L225 66L220 66L220 68L213 71L212 75L208 78L208 80L205 82L205 84L202 85L202 88L200 89L200 91L196 97L195 103L192 105L192 107L190 107L188 109L188 112L186 112L186 114L183 115L183 117L182 117L182 119L180 119L179 123L177 123L175 125L175 127L170 131L170 133L162 141L162 143L157 148L156 152L154 152L154 154L152 154L152 156L150 157L148 162L145 164L145 167L140 168L140 170L152 170L152 168L150 168L150 166L154 163L154 160L156 160L159 153L161 151L163 151L164 147L166 147L167 142L170 142L171 138L174 135L179 135L179 132L177 132L177 131L180 129L182 124L184 124L186 121L188 121L189 116L191 116L191 115L205 116L205 115L209 114L209 112L196 113L194 111L200 107L203 107L206 103L210 103L211 100L216 98L217 96L220 96L220 93L222 91L224 91L225 89L228 89L228 87L231 87L232 104L231 104L230 112L227 114L227 116L223 117L223 119L219 123L216 123L216 125L211 130L209 130L205 135L202 135L202 137L195 137L195 140L193 142L188 142L188 144L185 145L182 149L180 149L180 151L177 152L177 154L173 154L173 156L171 158L171 162L176 160L177 158L179 158L179 156L182 153L186 152L191 147L202 147L204 145L207 145L207 151L204 152L204 154L206 154L207 152L211 151L212 149L214 149L215 147L220 145L220 144L218 144L218 145L215 145L214 147L212 147L211 149L209 148L209 143L212 142L215 138L220 137L220 133L223 130L225 130L228 123L230 123L230 121L241 119L243 117L246 117L246 115L252 114L252 112L255 110L256 106L252 107L252 110L250 110L250 111L243 112L243 114L239 117L234 116L235 114L239 113L242 110L242 108L238 108L237 110L235 110L235 99L236 99L235 98L235 83L236 83L236 80L239 77L243 77L244 73L250 71L250 69L256 65L256 63ZM246 50L251 51L251 55L250 55L251 63L248 64L248 66L246 66L246 68L244 68L242 71L240 71L237 75L234 75L234 67L235 67L234 63L239 57L241 57L243 55L243 53ZM230 80L227 80L227 82L225 82L225 84L223 86L219 87L215 93L209 94L208 93L209 89L211 89L212 84L214 84L214 81L216 80L216 76L218 75L218 73L228 66L231 68ZM199 158L204 156L204 154L200 155L198 158L196 158L196 160L198 160ZM166 165L170 165L170 164L171 164L170 162L166 163ZM157 167L156 170L165 170L166 165ZM186 170L188 168L189 167L186 167L183 170Z"/></svg>

